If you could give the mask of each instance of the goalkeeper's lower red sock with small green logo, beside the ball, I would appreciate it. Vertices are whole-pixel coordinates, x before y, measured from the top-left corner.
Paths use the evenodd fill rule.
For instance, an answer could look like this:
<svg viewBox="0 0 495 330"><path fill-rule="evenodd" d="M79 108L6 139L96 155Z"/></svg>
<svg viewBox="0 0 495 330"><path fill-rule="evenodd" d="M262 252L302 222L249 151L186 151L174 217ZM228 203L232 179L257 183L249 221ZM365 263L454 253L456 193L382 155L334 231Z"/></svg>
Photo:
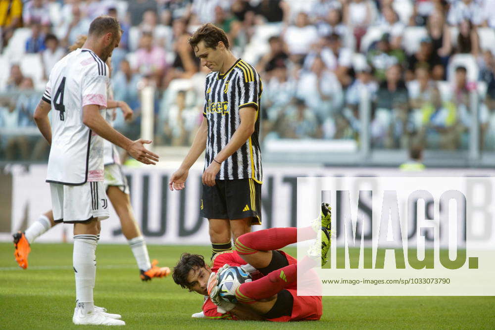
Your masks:
<svg viewBox="0 0 495 330"><path fill-rule="evenodd" d="M294 281L297 281L297 264L277 269L259 280L242 283L236 290L236 298L245 304L270 298Z"/></svg>

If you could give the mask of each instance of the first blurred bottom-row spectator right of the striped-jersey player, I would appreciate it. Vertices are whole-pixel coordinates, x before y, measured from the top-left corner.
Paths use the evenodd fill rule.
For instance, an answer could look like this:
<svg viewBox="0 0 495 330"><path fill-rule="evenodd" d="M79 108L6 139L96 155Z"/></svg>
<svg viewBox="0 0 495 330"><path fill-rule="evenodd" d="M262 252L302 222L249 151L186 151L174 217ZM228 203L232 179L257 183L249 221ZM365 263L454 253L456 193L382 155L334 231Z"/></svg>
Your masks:
<svg viewBox="0 0 495 330"><path fill-rule="evenodd" d="M297 98L279 113L275 124L275 132L281 139L314 139L321 138L321 129L315 113L306 106L303 99Z"/></svg>

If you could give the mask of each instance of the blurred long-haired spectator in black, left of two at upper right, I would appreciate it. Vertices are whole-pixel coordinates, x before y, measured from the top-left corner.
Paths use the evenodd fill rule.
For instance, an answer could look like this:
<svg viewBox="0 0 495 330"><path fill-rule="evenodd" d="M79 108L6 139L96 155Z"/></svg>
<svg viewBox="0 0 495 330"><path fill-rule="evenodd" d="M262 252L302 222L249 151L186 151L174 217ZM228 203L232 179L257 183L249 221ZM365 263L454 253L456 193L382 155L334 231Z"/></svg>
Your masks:
<svg viewBox="0 0 495 330"><path fill-rule="evenodd" d="M452 52L452 41L450 39L450 29L445 22L444 14L439 10L433 11L428 16L426 29L432 40L432 50L440 56L445 67L448 57Z"/></svg>

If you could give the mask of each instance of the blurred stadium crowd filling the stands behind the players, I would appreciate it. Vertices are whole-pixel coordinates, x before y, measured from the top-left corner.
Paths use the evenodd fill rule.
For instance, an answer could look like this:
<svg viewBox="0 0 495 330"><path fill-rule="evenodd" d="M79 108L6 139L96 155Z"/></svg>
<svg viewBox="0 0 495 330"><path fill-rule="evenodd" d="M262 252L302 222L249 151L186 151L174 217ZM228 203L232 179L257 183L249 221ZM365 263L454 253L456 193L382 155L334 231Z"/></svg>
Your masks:
<svg viewBox="0 0 495 330"><path fill-rule="evenodd" d="M191 144L208 70L188 38L212 22L262 75L264 140L359 141L369 102L373 147L466 149L476 110L480 145L495 149L495 0L0 0L0 158L46 155L19 128L35 127L51 67L102 14L124 31L111 81L135 109L114 125L131 138L152 85L155 141Z"/></svg>

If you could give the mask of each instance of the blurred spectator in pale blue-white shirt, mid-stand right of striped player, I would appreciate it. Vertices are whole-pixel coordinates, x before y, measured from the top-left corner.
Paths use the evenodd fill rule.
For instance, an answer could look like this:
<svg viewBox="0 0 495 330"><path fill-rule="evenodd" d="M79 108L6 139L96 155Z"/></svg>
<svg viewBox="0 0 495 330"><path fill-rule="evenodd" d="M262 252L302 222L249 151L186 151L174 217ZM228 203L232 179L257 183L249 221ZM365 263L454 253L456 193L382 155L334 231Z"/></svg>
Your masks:
<svg viewBox="0 0 495 330"><path fill-rule="evenodd" d="M323 121L340 110L344 95L335 74L325 68L321 57L315 57L311 71L303 71L297 85L297 97L303 99Z"/></svg>

